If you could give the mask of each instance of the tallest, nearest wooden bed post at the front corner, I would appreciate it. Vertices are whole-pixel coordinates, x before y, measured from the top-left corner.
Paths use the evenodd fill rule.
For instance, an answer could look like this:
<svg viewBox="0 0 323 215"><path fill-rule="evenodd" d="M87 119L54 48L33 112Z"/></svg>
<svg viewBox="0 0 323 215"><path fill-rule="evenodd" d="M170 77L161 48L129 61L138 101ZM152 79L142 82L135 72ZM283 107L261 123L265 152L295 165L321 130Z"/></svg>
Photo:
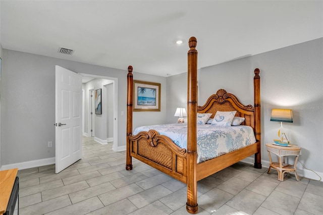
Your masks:
<svg viewBox="0 0 323 215"><path fill-rule="evenodd" d="M186 210L197 213L197 50L196 38L189 39L187 53L187 202Z"/></svg>

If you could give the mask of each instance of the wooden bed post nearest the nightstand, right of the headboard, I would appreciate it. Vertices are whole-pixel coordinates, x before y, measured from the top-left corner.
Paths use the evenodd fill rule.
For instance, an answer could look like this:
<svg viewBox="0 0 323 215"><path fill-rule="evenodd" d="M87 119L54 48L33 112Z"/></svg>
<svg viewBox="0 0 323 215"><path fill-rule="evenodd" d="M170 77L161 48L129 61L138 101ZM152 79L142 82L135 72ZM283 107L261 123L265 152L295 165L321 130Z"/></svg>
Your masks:
<svg viewBox="0 0 323 215"><path fill-rule="evenodd" d="M254 87L254 118L255 118L255 137L259 141L258 152L254 155L254 168L261 169L261 125L260 125L260 70L254 70L253 87Z"/></svg>

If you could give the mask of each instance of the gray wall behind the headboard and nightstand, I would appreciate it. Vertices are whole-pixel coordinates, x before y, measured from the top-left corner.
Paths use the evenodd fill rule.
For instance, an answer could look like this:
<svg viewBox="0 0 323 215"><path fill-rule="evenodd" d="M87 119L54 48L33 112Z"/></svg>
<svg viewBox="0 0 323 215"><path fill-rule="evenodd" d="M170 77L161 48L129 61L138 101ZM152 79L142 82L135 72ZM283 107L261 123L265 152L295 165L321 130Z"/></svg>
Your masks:
<svg viewBox="0 0 323 215"><path fill-rule="evenodd" d="M198 43L197 43L198 50ZM198 74L198 105L218 89L236 94L244 104L253 104L253 71L260 69L262 159L268 160L265 143L277 138L280 123L271 122L273 108L293 110L293 123L283 127L291 143L302 148L300 162L323 173L323 38L202 68ZM167 78L168 110L185 105L187 78ZM176 92L176 93L172 93ZM187 105L185 105L187 106ZM168 122L174 114L168 113ZM298 166L303 169L300 165ZM318 177L316 177L317 179Z"/></svg>

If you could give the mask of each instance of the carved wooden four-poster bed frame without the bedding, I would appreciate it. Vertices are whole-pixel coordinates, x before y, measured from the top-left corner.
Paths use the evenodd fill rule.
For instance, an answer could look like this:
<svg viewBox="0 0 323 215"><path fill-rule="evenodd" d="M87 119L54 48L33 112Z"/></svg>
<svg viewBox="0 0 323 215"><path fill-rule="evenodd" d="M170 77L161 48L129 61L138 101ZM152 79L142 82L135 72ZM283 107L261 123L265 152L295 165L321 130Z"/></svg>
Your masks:
<svg viewBox="0 0 323 215"><path fill-rule="evenodd" d="M203 106L197 106L197 50L196 38L189 39L188 85L187 85L187 149L178 147L173 141L159 135L155 130L142 131L132 135L133 75L132 66L128 67L127 89L127 158L126 170L132 170L132 157L185 183L187 185L186 209L197 213L197 181L219 172L240 160L254 154L254 168L261 169L260 157L260 76L254 70L254 106L243 105L237 97L224 89L211 95ZM236 116L244 117L244 125L254 129L256 143L230 153L197 164L197 113L217 111L237 111Z"/></svg>

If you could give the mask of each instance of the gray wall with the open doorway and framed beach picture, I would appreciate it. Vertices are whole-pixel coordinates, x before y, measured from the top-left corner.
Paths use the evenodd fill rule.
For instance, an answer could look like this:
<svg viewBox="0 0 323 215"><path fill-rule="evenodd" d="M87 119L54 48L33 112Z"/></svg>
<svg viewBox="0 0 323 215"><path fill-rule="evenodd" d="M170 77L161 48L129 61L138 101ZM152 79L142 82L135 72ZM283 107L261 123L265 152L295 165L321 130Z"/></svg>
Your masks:
<svg viewBox="0 0 323 215"><path fill-rule="evenodd" d="M118 78L118 146L125 146L128 63L125 70L118 70L4 49L0 115L2 166L55 157L55 147L47 147L48 141L55 143L55 65L77 73ZM136 65L133 67L136 71ZM165 122L166 78L136 72L134 77L161 83L161 111L134 113L134 121L137 124L148 119L152 124Z"/></svg>

